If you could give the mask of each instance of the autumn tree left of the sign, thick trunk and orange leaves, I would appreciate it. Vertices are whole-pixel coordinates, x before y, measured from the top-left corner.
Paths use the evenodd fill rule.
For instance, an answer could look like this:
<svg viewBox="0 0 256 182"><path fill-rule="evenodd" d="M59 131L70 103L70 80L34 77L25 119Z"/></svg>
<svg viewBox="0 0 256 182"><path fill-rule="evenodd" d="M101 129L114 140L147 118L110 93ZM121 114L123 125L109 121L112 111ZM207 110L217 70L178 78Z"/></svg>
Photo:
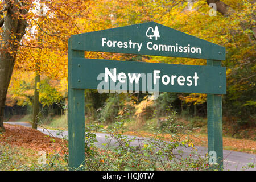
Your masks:
<svg viewBox="0 0 256 182"><path fill-rule="evenodd" d="M55 78L67 77L68 38L79 33L77 20L80 16L86 17L85 14L88 13L86 11L88 1L41 2L46 4L49 11L47 16L40 19L33 11L38 1L6 0L1 4L1 131L4 130L3 113L14 65L15 69L26 72L36 71L38 74L44 73ZM43 32L43 43L38 41L36 36L38 31L35 27ZM22 39L24 34L26 38ZM40 49L42 51L39 51ZM15 59L17 59L16 64ZM40 66L36 67L36 65Z"/></svg>

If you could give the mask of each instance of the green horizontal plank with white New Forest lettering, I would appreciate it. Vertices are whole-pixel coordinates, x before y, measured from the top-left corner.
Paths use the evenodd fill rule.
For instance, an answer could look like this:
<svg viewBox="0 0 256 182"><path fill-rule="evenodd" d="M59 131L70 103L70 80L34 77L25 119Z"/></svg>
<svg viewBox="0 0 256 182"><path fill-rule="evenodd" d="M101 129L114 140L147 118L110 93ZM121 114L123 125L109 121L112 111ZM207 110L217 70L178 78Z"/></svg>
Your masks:
<svg viewBox="0 0 256 182"><path fill-rule="evenodd" d="M69 64L72 64L71 87L77 89L226 94L225 67L83 58L73 58Z"/></svg>

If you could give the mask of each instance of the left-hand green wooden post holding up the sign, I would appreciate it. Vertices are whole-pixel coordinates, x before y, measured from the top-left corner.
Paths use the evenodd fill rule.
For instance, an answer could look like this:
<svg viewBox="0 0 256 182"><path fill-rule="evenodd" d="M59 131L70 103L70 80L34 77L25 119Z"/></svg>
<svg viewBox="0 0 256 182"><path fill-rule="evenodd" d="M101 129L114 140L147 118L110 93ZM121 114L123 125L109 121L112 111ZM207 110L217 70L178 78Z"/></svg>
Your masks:
<svg viewBox="0 0 256 182"><path fill-rule="evenodd" d="M69 39L72 45L72 38ZM68 47L68 164L70 168L77 168L85 162L85 117L84 117L84 89L73 89L71 86L73 59L84 58L84 51L72 50ZM79 81L79 80L77 80Z"/></svg>

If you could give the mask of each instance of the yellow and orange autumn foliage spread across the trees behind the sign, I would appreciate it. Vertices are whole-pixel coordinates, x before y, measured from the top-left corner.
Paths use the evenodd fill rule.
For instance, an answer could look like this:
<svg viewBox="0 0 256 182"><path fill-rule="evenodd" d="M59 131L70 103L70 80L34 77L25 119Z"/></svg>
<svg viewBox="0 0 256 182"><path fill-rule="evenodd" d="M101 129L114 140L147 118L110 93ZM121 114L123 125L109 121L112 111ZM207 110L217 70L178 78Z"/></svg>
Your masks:
<svg viewBox="0 0 256 182"><path fill-rule="evenodd" d="M239 96L240 91L253 88L255 85L254 82L245 79L255 78L252 76L256 68L255 61L253 61L256 54L255 40L251 31L251 27L255 26L251 15L255 14L256 6L249 1L223 0L236 11L230 16L223 16L220 13L217 13L217 16L209 16L210 8L205 0L193 1L192 9L188 9L188 1L184 0L42 1L48 7L46 16L39 18L36 13L31 12L26 17L30 26L20 43L23 46L19 47L15 64L15 70L23 72L20 75L14 75L14 79L21 80L22 78L25 79L25 82L30 82L26 79L31 79L34 76L26 76L25 72L42 73L42 75L57 80L54 85L57 92L60 92L61 96L67 97L68 38L71 35L155 21L197 38L225 46L227 60L222 61L222 65L228 67L226 70L227 88L233 87L231 91L234 94L234 100ZM13 38L15 39L15 36ZM8 51L14 54L11 49ZM135 56L85 52L85 57L127 60ZM182 57L142 56L140 61L206 64L205 60ZM237 74L242 70L244 71ZM15 87L20 88L19 81L13 81L13 86L10 86L13 91ZM31 91L28 90L24 94L30 96ZM18 96L13 93L10 97L17 98ZM19 97L24 101L24 96ZM179 98L191 104L202 104L206 101L205 94L181 94ZM137 105L136 115L142 115L146 108L152 105L152 102L146 98L145 101Z"/></svg>

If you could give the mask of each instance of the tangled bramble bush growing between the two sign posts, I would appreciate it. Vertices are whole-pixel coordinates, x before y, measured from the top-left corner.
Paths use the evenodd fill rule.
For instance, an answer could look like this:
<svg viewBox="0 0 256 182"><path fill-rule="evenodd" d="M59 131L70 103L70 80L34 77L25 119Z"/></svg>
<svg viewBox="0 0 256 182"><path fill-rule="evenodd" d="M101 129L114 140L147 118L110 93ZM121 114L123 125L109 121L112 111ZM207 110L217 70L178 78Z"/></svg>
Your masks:
<svg viewBox="0 0 256 182"><path fill-rule="evenodd" d="M104 126L86 126L86 160L80 169L84 170L208 170L208 158L197 154L191 140L182 136L187 128L180 126L175 113L168 115L165 127L157 130L150 137L129 137L124 135L124 125L130 122L126 115L114 119L113 127L105 130ZM108 133L105 148L96 147L96 131ZM165 136L170 136L170 142ZM138 140L138 145L131 142ZM110 143L115 143L110 145ZM179 147L191 147L191 155L181 155Z"/></svg>

